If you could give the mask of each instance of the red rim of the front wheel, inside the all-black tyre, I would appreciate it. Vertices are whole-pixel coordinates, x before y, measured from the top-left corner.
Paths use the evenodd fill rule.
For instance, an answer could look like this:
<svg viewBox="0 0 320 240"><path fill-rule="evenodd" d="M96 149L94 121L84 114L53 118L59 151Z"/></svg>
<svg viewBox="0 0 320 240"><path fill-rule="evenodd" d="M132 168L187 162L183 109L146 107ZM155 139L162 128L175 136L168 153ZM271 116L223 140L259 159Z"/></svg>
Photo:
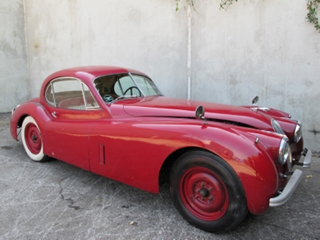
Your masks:
<svg viewBox="0 0 320 240"><path fill-rule="evenodd" d="M228 191L221 178L203 167L187 170L179 183L183 205L197 218L214 221L228 210Z"/></svg>

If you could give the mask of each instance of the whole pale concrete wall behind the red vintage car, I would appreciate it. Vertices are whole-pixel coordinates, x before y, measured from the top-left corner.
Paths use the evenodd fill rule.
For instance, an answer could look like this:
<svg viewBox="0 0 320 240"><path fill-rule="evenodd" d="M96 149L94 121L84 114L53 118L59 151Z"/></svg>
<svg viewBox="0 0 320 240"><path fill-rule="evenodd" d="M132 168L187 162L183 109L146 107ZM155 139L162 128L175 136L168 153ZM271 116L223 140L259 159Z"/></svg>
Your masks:
<svg viewBox="0 0 320 240"><path fill-rule="evenodd" d="M260 105L300 119L306 145L319 151L320 34L305 20L305 1L246 0L227 11L219 10L219 0L194 2L191 98L243 105L259 95ZM16 81L10 89L27 89L21 1L1 4L17 12L4 11L16 17L5 20L18 29L5 27L16 35L4 40L20 46L12 47L19 53L12 58L21 64L19 71L5 75ZM138 69L165 95L187 97L187 14L183 7L175 12L174 0L25 0L24 5L30 97L38 96L50 73L96 64ZM19 94L13 99L22 102Z"/></svg>

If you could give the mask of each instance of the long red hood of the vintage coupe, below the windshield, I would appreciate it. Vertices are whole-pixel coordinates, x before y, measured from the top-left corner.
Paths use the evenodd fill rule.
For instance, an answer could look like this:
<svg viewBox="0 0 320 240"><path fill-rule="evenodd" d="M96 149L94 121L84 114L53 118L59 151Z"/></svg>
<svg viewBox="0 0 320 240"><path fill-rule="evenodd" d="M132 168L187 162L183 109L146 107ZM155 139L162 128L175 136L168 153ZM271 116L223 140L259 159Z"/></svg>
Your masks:
<svg viewBox="0 0 320 240"><path fill-rule="evenodd" d="M167 97L148 97L142 100L135 99L121 102L124 111L128 115L136 117L195 118L195 110L201 105L205 109L205 118L209 121L231 122L274 131L271 126L270 116L263 111L253 111L248 107Z"/></svg>

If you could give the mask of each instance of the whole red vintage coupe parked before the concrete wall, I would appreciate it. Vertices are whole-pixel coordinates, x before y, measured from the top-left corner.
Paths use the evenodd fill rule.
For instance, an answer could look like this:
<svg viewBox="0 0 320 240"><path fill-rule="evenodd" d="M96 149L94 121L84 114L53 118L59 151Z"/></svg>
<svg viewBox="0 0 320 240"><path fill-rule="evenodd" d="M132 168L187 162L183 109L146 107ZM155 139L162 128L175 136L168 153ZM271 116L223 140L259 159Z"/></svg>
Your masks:
<svg viewBox="0 0 320 240"><path fill-rule="evenodd" d="M12 111L11 135L34 161L56 158L152 193L210 232L285 203L310 165L301 124L271 108L167 98L144 73L65 69ZM301 158L301 159L300 159Z"/></svg>

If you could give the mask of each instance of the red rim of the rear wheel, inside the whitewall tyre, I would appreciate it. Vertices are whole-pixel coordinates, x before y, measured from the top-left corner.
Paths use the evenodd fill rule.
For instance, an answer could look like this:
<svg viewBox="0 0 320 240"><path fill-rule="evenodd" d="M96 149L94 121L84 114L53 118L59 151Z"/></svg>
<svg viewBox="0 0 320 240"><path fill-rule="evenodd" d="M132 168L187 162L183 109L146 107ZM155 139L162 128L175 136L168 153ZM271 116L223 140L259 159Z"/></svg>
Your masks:
<svg viewBox="0 0 320 240"><path fill-rule="evenodd" d="M26 144L33 154L38 154L41 151L42 139L41 134L37 126L33 123L27 124L25 128L25 141Z"/></svg>

